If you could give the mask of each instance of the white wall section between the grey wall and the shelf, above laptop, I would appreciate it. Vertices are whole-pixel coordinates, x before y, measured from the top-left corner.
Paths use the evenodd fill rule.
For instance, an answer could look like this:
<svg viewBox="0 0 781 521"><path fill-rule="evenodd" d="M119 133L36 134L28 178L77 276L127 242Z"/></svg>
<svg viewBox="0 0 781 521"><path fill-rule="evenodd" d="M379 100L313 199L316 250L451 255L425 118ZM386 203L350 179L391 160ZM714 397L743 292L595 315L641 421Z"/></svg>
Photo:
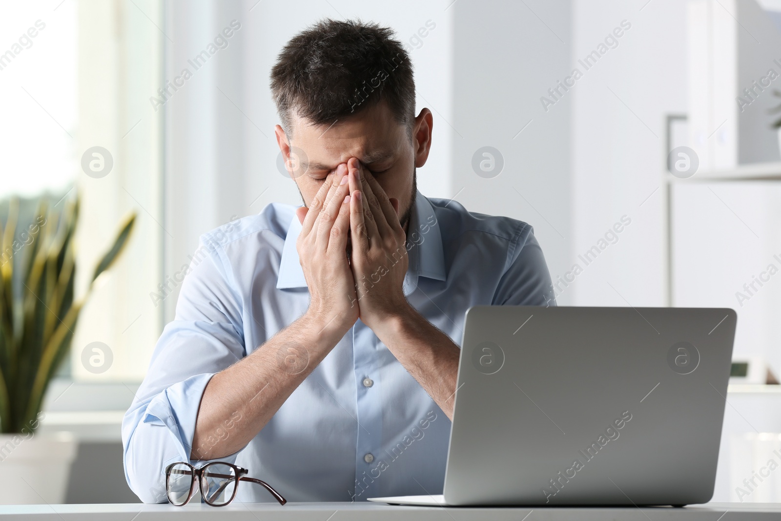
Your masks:
<svg viewBox="0 0 781 521"><path fill-rule="evenodd" d="M571 92L570 262L583 272L564 292L574 305L667 305L665 117L686 113L686 2L646 2L573 2L573 67L583 77ZM618 44L586 69L578 60L616 27ZM589 264L580 259L622 216L631 223L618 238Z"/></svg>

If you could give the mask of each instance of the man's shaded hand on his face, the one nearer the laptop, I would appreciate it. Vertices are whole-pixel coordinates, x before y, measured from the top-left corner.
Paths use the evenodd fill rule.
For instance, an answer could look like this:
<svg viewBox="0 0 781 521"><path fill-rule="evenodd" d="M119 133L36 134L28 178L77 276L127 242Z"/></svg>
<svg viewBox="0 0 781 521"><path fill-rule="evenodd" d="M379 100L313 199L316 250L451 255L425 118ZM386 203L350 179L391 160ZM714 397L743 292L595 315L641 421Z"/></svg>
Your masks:
<svg viewBox="0 0 781 521"><path fill-rule="evenodd" d="M376 330L384 320L410 309L402 289L407 273L406 234L398 220L398 199L389 199L358 159L348 163L351 268L363 323Z"/></svg>

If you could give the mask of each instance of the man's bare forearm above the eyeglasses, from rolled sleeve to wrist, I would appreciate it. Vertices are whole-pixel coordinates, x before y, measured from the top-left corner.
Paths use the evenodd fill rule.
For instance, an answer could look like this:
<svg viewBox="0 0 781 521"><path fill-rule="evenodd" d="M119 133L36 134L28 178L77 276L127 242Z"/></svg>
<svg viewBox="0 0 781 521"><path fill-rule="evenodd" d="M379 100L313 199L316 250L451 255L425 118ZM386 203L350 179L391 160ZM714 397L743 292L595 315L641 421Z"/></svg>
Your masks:
<svg viewBox="0 0 781 521"><path fill-rule="evenodd" d="M223 458L244 448L343 336L304 315L212 376L198 408L191 459Z"/></svg>

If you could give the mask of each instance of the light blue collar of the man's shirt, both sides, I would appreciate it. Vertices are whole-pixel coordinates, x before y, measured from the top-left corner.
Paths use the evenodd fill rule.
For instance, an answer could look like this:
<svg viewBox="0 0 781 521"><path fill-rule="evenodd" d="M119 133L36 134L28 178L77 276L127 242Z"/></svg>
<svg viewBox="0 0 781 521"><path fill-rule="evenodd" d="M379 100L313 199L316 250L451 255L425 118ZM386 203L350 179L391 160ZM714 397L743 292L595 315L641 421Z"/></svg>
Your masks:
<svg viewBox="0 0 781 521"><path fill-rule="evenodd" d="M307 287L295 244L300 233L301 223L294 213L282 247L280 271L276 279L277 289ZM415 208L409 219L407 251L409 266L404 278L405 295L415 291L419 277L446 280L442 235L437 216L428 198L419 191L415 191Z"/></svg>

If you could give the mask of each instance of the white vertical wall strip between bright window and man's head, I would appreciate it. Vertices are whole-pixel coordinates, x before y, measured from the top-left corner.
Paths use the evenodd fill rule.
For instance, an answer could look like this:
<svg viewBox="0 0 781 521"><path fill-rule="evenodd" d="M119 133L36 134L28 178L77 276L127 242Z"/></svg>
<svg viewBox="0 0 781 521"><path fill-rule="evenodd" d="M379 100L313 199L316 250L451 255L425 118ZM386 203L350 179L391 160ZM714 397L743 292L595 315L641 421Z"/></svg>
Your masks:
<svg viewBox="0 0 781 521"><path fill-rule="evenodd" d="M243 211L243 195L244 144L249 137L241 109L241 58L248 23L242 8L236 0L166 3L163 77L183 85L159 108L166 121L164 323L173 319L177 279L190 262L188 255L198 248L198 237L233 215L248 214ZM227 39L227 47L205 62L193 62L231 20L238 20L241 29ZM187 80L184 70L191 74Z"/></svg>

